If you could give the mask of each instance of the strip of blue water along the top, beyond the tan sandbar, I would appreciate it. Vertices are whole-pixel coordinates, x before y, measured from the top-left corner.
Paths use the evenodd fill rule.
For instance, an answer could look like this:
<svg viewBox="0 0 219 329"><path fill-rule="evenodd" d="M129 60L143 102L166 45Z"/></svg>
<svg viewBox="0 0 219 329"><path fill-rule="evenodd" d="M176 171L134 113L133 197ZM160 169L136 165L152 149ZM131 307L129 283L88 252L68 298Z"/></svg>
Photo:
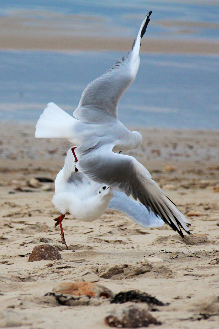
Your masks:
<svg viewBox="0 0 219 329"><path fill-rule="evenodd" d="M137 33L142 18L153 11L148 26L149 38L207 38L219 39L218 0L1 0L0 15L39 20L37 24L56 24L59 17L47 13L87 16L102 20L99 35L129 36ZM185 23L216 23L217 26L163 26L160 21L182 21ZM74 22L73 22L74 25ZM71 29L67 31L71 33ZM86 21L84 21L84 32Z"/></svg>

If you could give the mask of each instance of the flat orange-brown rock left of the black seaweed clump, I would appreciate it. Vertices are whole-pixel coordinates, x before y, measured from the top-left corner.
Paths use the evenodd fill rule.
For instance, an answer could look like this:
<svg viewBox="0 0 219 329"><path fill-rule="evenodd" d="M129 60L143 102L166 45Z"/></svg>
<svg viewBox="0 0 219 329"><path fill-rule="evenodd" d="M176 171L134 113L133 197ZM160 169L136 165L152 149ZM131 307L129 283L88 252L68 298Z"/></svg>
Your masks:
<svg viewBox="0 0 219 329"><path fill-rule="evenodd" d="M53 292L55 292L56 294L88 296L96 298L114 297L114 293L111 290L92 282L62 282L53 289Z"/></svg>

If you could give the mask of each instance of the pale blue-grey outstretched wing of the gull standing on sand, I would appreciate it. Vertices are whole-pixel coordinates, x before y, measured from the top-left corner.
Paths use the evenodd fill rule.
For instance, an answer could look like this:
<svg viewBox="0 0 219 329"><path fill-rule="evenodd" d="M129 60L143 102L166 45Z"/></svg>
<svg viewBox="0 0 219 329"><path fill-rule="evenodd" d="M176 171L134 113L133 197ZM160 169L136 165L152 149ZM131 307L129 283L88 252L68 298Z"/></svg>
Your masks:
<svg viewBox="0 0 219 329"><path fill-rule="evenodd" d="M147 210L142 203L131 199L125 193L120 191L114 190L113 194L108 209L120 211L142 227L160 227L164 225L164 221L161 217L159 215L156 216L152 211Z"/></svg>

